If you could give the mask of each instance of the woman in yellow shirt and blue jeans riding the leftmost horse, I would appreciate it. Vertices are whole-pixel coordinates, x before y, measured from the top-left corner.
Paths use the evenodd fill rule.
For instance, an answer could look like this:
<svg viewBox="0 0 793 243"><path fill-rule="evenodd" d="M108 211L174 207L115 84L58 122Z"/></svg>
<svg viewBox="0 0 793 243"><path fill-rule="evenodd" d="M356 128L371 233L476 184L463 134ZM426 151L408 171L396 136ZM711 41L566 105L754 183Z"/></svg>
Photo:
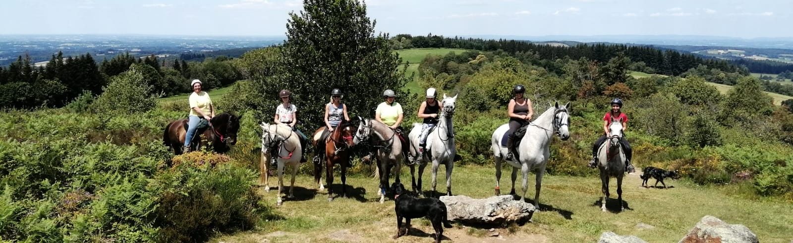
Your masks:
<svg viewBox="0 0 793 243"><path fill-rule="evenodd" d="M201 80L193 79L190 82L193 87L193 93L190 94L190 116L187 117L187 133L185 134L185 149L184 152L190 152L190 141L195 137L196 128L201 119L209 122L215 117L215 107L212 105L212 99L205 91L201 91Z"/></svg>

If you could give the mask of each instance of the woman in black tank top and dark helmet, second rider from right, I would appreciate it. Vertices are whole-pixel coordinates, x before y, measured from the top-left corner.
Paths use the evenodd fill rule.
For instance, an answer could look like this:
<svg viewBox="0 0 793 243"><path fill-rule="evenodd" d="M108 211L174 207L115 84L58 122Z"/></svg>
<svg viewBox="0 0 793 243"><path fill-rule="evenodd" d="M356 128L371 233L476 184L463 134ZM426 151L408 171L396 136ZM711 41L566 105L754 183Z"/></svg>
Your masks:
<svg viewBox="0 0 793 243"><path fill-rule="evenodd" d="M507 154L506 160L512 160L513 155L515 154L515 130L520 128L523 125L527 125L529 121L531 121L531 117L534 116L534 109L531 107L531 100L528 98L523 97L523 93L526 92L526 87L523 85L515 85L515 88L512 90L515 94L515 97L509 101L509 106L507 108L507 115L509 116L509 130L507 134L509 137L507 138L507 148L509 149L509 153Z"/></svg>

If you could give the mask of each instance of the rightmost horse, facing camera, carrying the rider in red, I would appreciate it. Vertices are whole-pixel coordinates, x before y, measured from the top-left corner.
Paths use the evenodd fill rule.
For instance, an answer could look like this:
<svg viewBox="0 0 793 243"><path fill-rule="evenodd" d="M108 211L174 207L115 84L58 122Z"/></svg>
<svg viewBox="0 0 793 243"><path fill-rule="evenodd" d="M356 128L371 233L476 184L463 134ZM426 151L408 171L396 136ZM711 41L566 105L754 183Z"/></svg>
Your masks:
<svg viewBox="0 0 793 243"><path fill-rule="evenodd" d="M611 123L608 125L608 141L600 145L598 150L598 167L600 168L600 182L602 183L601 190L603 190L603 200L601 201L600 210L606 211L606 199L609 197L608 193L608 180L611 176L617 178L617 199L619 200L619 210L625 210L623 204L623 175L625 175L625 151L623 151L622 143L619 141L623 138L623 121L611 118Z"/></svg>

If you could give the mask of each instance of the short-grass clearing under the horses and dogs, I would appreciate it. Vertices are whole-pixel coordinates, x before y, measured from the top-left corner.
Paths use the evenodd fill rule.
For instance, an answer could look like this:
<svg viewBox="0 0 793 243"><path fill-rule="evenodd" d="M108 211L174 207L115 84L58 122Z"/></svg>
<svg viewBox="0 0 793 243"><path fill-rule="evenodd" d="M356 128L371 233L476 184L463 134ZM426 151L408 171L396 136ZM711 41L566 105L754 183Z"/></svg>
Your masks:
<svg viewBox="0 0 793 243"><path fill-rule="evenodd" d="M442 182L445 181L444 168L439 171L439 191L445 192ZM409 170L404 168L403 172L401 178L408 185ZM493 194L495 179L492 166L458 166L454 168L453 175L452 191L455 195L485 198ZM429 172L425 173L425 190L431 189L429 176ZM501 179L504 193L511 188L509 177L506 172ZM531 178L527 195L534 192ZM271 187L276 185L274 181L271 180ZM335 183L339 183L338 176ZM611 189L615 198L613 183L614 180ZM626 175L623 196L630 210L601 212L597 205L601 196L599 179L546 175L540 197L542 211L534 214L533 222L500 229L500 237L486 237L488 232L485 229L459 224L446 229L444 235L454 242L485 242L496 238L515 242L592 242L600 237L600 233L610 230L622 235L636 235L649 242L673 242L679 241L704 215L713 215L725 222L749 227L762 242L787 243L793 239L793 214L790 214L793 204L777 199L750 199L736 193L740 191L737 189L739 186L699 187L671 179L667 181L667 185L672 186L669 189L645 188L640 184L638 175ZM264 222L258 230L216 237L212 242L394 241L391 237L396 233L397 222L393 201L377 202L377 179L348 177L350 198L339 198L333 202L327 201L327 191L316 191L316 185L308 175L298 175L296 186L296 199L285 201L275 210L282 218ZM266 204L275 204L275 191L262 194L266 197ZM619 205L615 201L609 202L610 208ZM640 222L655 228L639 229L637 224ZM428 234L434 231L426 220L414 221L412 225L415 230L397 242L431 241Z"/></svg>

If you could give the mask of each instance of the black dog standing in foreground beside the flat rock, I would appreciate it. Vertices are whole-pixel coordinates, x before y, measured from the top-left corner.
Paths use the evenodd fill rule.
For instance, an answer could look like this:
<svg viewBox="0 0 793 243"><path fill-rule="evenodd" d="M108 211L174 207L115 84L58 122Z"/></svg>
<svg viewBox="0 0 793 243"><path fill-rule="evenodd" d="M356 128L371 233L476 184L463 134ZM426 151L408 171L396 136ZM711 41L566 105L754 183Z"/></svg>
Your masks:
<svg viewBox="0 0 793 243"><path fill-rule="evenodd" d="M394 210L397 211L397 235L393 238L396 239L408 233L410 219L427 217L432 222L432 228L435 229L435 242L439 243L443 238L441 223L444 227L451 228L450 222L446 220L446 204L435 198L416 199L407 195L408 191L404 190L402 183L391 184L391 191L396 203ZM402 232L402 218L405 218L404 233Z"/></svg>

